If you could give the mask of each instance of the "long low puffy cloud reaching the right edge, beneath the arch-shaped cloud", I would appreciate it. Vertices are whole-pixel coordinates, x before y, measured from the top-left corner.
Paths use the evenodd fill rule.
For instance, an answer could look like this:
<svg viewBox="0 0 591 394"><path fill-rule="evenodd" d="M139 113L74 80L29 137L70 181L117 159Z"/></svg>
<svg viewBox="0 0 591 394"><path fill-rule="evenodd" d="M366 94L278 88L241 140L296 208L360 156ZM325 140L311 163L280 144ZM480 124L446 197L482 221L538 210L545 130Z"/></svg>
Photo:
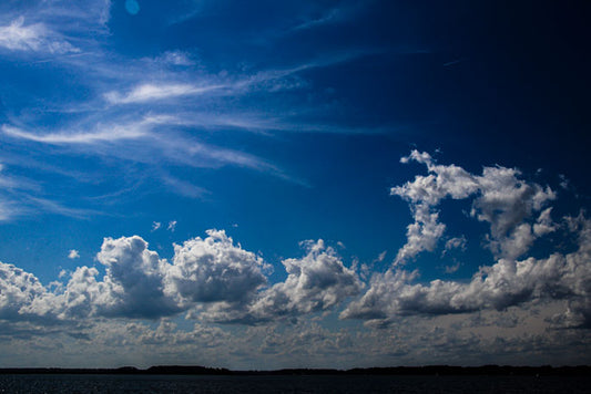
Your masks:
<svg viewBox="0 0 591 394"><path fill-rule="evenodd" d="M483 309L503 310L531 300L568 300L557 321L581 326L591 321L591 220L570 219L579 249L567 255L521 261L500 259L481 267L468 283L434 280L412 283L418 272L388 270L373 278L369 290L342 313L344 319L388 322L409 314L447 314Z"/></svg>

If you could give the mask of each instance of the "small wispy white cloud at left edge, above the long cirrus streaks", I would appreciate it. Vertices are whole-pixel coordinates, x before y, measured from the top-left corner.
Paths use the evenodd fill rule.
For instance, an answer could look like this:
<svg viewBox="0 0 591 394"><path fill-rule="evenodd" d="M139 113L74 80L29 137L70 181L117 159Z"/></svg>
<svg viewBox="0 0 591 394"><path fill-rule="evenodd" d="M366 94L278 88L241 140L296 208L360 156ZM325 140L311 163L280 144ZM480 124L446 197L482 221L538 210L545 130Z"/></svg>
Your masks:
<svg viewBox="0 0 591 394"><path fill-rule="evenodd" d="M24 24L20 17L8 25L0 25L0 48L21 52L48 52L55 54L80 52L43 23Z"/></svg>

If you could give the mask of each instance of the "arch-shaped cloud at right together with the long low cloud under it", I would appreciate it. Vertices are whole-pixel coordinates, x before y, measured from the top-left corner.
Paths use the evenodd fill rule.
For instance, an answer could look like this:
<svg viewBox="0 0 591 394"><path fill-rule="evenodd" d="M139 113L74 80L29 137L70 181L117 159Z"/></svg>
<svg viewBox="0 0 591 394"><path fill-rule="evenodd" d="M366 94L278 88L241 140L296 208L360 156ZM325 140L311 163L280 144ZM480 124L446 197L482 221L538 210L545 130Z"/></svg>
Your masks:
<svg viewBox="0 0 591 394"><path fill-rule="evenodd" d="M409 203L415 218L408 226L407 243L399 250L393 267L385 273L374 274L367 292L353 301L342 312L342 318L388 324L404 315L469 313L503 310L533 300L568 300L572 304L571 315L557 318L557 321L573 321L575 314L578 324L587 324L591 294L591 269L584 263L591 257L589 219L582 215L565 218L579 239L577 251L519 260L536 239L558 229L550 216L552 207L543 209L556 199L550 187L528 183L520 178L519 170L501 166L485 167L478 176L455 165L437 165L429 154L418 151L401 159L403 163L410 160L425 164L429 175L416 176L412 182L391 189L391 194ZM445 230L445 225L438 221L436 207L439 203L444 198L472 196L470 216L489 224L490 232L485 240L497 261L481 266L468 283L440 279L420 283L417 270L400 269L399 263L418 252L435 250ZM534 216L536 212L539 214ZM466 248L466 241L463 236L448 239L442 255L455 248ZM459 262L446 267L446 272L458 268Z"/></svg>

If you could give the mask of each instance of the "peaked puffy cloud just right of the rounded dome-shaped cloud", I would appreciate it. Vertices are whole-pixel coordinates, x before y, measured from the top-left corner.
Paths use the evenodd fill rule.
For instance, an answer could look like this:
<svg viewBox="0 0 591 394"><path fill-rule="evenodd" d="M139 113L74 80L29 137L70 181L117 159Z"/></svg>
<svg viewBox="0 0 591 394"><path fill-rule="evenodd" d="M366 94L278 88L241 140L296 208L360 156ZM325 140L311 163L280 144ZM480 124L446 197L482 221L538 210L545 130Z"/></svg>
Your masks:
<svg viewBox="0 0 591 394"><path fill-rule="evenodd" d="M305 257L283 261L287 279L266 290L251 308L256 319L324 311L360 291L356 273L343 265L333 248L322 239L305 245Z"/></svg>

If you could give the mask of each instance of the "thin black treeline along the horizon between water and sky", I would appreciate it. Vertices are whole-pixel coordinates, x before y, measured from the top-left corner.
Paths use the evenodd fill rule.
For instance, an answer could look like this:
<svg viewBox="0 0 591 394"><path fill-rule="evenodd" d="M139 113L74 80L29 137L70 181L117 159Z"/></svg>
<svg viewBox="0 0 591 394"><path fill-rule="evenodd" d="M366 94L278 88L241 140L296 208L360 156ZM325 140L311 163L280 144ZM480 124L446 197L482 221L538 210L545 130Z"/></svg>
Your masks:
<svg viewBox="0 0 591 394"><path fill-rule="evenodd" d="M119 369L0 369L0 374L100 374L100 375L527 375L527 376L574 376L591 375L590 365L578 366L391 366L353 370L286 369L276 371L231 371L192 365L157 365L146 370L134 366Z"/></svg>

